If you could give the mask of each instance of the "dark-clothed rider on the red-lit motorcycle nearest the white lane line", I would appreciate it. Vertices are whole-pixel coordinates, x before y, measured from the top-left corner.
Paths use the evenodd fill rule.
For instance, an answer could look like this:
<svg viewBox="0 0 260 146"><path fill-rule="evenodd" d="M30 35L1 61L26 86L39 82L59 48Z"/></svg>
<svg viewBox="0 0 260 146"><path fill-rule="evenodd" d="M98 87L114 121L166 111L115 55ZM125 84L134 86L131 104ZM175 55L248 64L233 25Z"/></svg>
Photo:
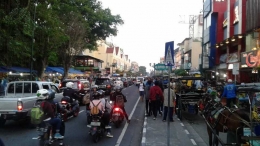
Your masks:
<svg viewBox="0 0 260 146"><path fill-rule="evenodd" d="M120 86L115 86L115 87L114 87L114 90L115 90L115 92L112 93L112 97L111 97L111 99L110 99L111 101L114 102L114 106L113 106L113 108L111 109L111 112L110 112L110 117L112 117L113 110L114 110L114 108L115 108L116 105L117 105L116 96L122 95L123 98L124 98L124 102L127 102L125 95L124 95L124 94L121 92L121 90L120 90ZM126 120L127 120L127 123L130 123L130 120L128 119L128 115L127 115L127 113L126 113L126 111L125 111L125 107L123 106L123 107L120 107L120 108L121 108L121 109L123 110L123 112L124 112L124 115L125 115L125 118L126 118Z"/></svg>

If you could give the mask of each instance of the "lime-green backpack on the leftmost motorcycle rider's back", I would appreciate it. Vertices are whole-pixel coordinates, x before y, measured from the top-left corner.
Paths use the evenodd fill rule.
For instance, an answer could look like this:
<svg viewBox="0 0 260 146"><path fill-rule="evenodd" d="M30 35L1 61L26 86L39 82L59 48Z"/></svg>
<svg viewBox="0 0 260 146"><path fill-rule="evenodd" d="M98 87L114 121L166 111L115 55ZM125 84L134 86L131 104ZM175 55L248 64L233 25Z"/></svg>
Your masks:
<svg viewBox="0 0 260 146"><path fill-rule="evenodd" d="M41 104L35 104L34 107L31 109L31 123L38 125L44 120L44 107L45 102L41 102Z"/></svg>

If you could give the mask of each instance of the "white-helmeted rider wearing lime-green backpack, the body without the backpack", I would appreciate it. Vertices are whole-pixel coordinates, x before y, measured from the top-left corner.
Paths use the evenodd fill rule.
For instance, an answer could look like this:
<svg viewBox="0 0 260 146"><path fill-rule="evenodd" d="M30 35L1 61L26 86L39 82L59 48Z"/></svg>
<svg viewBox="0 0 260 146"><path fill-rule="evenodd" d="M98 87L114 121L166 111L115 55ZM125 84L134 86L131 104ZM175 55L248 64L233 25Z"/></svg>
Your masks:
<svg viewBox="0 0 260 146"><path fill-rule="evenodd" d="M54 135L54 138L56 139L63 139L64 136L60 134L60 128L61 128L61 120L59 118L55 117L55 104L52 102L49 102L48 100L51 99L50 97L50 92L46 89L40 89L37 91L37 103L42 103L40 104L41 108L43 109L44 114L46 117L50 117L51 119L48 121L49 124L51 124L53 127L56 128L56 133Z"/></svg>

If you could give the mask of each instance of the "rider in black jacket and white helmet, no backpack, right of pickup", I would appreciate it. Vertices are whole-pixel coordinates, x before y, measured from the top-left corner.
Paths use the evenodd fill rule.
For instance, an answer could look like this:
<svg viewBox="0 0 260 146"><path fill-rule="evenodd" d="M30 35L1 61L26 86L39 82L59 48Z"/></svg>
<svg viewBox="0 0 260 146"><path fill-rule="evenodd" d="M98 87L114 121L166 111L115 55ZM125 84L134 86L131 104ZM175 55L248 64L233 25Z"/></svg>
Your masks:
<svg viewBox="0 0 260 146"><path fill-rule="evenodd" d="M66 83L66 89L63 91L63 96L70 97L70 103L72 106L72 110L75 111L77 108L79 108L79 105L76 103L76 101L73 101L73 99L78 99L78 94L75 90L72 89L74 83L68 82Z"/></svg>

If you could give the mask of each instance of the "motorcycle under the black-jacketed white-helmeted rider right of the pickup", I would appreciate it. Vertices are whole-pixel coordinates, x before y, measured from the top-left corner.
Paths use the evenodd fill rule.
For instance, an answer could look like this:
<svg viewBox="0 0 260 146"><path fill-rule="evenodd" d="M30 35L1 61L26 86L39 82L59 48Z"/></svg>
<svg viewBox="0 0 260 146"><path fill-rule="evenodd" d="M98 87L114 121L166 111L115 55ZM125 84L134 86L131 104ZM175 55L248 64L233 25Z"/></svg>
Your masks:
<svg viewBox="0 0 260 146"><path fill-rule="evenodd" d="M73 110L73 107L76 109ZM64 96L60 102L61 107L61 117L62 121L67 121L71 116L77 117L79 114L79 103L77 100L73 99L73 103L70 103L70 97Z"/></svg>

